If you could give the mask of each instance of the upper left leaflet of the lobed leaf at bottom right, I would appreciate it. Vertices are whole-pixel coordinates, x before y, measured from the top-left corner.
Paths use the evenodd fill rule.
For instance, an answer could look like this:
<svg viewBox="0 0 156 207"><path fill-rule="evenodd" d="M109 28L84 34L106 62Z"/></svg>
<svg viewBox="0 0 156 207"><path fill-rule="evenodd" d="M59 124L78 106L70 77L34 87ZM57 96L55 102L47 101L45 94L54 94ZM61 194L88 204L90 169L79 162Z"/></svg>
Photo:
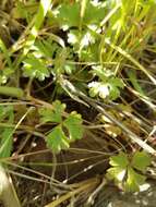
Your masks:
<svg viewBox="0 0 156 207"><path fill-rule="evenodd" d="M120 167L124 169L129 165L128 156L121 151L119 155L110 157L109 163L113 167Z"/></svg>

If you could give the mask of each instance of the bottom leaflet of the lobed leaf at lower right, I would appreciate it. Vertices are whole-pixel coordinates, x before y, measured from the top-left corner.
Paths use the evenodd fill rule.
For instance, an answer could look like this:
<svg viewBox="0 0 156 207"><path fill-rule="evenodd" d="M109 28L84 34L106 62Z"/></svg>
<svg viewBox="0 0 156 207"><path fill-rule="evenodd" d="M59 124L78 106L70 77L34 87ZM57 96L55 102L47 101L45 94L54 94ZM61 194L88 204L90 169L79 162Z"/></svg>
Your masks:
<svg viewBox="0 0 156 207"><path fill-rule="evenodd" d="M124 187L129 192L140 191L140 185L144 184L145 176L136 173L132 168L128 169L128 179L125 181Z"/></svg>

